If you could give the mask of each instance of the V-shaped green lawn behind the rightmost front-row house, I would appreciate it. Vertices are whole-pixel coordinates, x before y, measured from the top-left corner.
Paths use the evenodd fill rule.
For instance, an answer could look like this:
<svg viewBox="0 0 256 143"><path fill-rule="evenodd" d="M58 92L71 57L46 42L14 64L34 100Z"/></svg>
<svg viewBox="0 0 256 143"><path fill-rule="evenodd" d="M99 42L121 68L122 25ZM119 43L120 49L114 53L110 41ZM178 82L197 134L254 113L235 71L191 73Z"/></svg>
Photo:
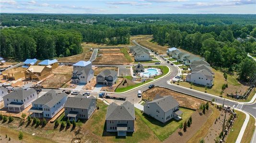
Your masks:
<svg viewBox="0 0 256 143"><path fill-rule="evenodd" d="M177 129L180 123L185 122L194 112L193 110L180 108L180 110L183 112L182 120L175 121L174 119L170 120L169 122L163 124L156 119L149 117L148 115L142 114L141 112L137 112L139 114L142 121L149 126L149 128L154 132L154 134L161 140L164 141L166 138L168 138L172 133L174 133Z"/></svg>

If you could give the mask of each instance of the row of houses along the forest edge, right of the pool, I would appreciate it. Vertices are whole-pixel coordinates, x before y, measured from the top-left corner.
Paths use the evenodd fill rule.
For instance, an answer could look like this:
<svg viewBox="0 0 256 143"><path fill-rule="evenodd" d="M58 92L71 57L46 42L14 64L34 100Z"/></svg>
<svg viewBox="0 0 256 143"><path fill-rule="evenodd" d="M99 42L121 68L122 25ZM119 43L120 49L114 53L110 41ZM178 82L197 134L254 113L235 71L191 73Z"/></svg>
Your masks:
<svg viewBox="0 0 256 143"><path fill-rule="evenodd" d="M186 76L186 82L192 82L203 86L211 87L214 82L214 73L208 62L204 58L180 51L173 47L167 50L167 53L190 67L191 73Z"/></svg>

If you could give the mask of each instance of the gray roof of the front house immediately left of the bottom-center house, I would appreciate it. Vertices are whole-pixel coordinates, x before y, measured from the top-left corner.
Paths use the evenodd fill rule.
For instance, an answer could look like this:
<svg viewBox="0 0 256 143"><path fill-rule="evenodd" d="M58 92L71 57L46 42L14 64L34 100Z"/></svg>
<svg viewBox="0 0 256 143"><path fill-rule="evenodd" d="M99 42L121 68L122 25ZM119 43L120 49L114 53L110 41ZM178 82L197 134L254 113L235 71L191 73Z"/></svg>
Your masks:
<svg viewBox="0 0 256 143"><path fill-rule="evenodd" d="M66 103L64 104L64 107L88 109L92 102L96 103L96 98L93 96L89 98L69 96Z"/></svg>

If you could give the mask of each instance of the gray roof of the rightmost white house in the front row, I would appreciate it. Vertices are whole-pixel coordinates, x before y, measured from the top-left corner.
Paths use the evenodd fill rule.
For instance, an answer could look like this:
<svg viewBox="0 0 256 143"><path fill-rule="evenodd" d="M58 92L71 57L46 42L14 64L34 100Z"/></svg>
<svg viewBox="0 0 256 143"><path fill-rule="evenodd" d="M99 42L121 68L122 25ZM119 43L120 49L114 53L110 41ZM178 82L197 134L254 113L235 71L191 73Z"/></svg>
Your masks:
<svg viewBox="0 0 256 143"><path fill-rule="evenodd" d="M163 112L167 112L176 106L179 106L179 103L172 96L160 96L157 95L154 100L148 102L147 104L157 104Z"/></svg>

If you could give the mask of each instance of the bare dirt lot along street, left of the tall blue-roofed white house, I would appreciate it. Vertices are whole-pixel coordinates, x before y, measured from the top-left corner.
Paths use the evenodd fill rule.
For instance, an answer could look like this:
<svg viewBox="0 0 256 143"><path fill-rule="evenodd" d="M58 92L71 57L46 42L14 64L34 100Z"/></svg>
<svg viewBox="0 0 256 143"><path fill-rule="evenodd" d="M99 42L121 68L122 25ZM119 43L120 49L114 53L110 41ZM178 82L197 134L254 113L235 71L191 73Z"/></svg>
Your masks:
<svg viewBox="0 0 256 143"><path fill-rule="evenodd" d="M41 82L44 88L60 88L66 82L70 81L70 74L55 74L51 78L46 79L44 82Z"/></svg>

